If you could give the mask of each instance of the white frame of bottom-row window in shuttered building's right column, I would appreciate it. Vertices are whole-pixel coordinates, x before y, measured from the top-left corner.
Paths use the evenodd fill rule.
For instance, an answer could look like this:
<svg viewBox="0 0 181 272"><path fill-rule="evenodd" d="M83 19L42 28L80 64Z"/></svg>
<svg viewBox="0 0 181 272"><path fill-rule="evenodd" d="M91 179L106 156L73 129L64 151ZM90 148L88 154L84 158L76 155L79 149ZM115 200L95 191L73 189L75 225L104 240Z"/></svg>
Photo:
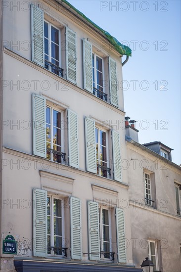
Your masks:
<svg viewBox="0 0 181 272"><path fill-rule="evenodd" d="M112 252L112 244L111 244L111 210L108 207L104 207L99 205L99 243L100 243L100 251L103 251L103 222L102 222L102 210L108 210L108 220L109 220L109 252ZM109 258L104 258L103 254L100 254L100 259L102 260L110 260Z"/></svg>

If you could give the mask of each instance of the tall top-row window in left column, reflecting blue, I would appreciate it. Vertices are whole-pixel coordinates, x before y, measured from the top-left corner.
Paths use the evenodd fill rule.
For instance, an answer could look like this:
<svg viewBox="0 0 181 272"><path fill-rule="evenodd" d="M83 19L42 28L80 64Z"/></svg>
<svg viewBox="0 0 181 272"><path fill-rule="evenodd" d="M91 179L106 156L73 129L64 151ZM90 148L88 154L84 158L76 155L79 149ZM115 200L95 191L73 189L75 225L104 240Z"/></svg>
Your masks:
<svg viewBox="0 0 181 272"><path fill-rule="evenodd" d="M44 42L45 42L45 68L59 75L60 66L60 32L50 23L44 21ZM48 62L50 62L48 64ZM54 65L51 65L54 64ZM55 66L56 65L56 66Z"/></svg>

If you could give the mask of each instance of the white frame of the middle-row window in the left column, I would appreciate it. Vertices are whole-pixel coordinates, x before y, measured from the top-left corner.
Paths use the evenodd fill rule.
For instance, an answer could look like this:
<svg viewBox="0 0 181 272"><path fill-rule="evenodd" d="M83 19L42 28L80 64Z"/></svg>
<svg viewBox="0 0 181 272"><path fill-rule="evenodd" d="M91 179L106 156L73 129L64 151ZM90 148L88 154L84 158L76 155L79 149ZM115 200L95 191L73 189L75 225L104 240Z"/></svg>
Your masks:
<svg viewBox="0 0 181 272"><path fill-rule="evenodd" d="M58 107L54 107L51 105L51 103L46 102L46 107L50 108L50 148L53 149L53 110L58 111L60 113L60 124L61 124L61 152L64 152L64 134L63 134L63 129L62 129L62 124L64 124L64 112L60 110ZM47 121L47 118L46 118ZM47 122L46 122L47 125ZM46 141L47 143L47 141ZM47 147L46 147L47 148ZM46 149L46 154L47 154L47 149ZM53 161L53 153L50 152L50 161ZM62 158L61 158L61 163L62 163Z"/></svg>

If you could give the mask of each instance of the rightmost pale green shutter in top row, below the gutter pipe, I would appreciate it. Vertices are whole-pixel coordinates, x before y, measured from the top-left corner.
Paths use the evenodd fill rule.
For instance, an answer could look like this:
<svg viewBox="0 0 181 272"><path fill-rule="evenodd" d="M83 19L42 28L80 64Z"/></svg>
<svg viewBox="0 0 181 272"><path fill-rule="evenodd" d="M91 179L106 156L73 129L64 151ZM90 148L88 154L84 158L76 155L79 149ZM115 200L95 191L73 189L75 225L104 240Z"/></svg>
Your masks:
<svg viewBox="0 0 181 272"><path fill-rule="evenodd" d="M109 91L111 104L118 107L116 62L109 57Z"/></svg>

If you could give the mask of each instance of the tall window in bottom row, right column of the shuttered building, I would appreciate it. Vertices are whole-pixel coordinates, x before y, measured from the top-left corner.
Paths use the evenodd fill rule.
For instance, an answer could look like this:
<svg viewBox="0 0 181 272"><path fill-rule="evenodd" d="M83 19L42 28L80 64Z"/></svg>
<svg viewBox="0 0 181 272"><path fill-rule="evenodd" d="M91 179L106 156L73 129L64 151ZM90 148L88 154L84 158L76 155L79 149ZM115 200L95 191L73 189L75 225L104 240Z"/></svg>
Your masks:
<svg viewBox="0 0 181 272"><path fill-rule="evenodd" d="M103 209L99 207L99 242L100 242L100 250L107 252L103 255L101 254L101 258L110 259L110 210Z"/></svg>

